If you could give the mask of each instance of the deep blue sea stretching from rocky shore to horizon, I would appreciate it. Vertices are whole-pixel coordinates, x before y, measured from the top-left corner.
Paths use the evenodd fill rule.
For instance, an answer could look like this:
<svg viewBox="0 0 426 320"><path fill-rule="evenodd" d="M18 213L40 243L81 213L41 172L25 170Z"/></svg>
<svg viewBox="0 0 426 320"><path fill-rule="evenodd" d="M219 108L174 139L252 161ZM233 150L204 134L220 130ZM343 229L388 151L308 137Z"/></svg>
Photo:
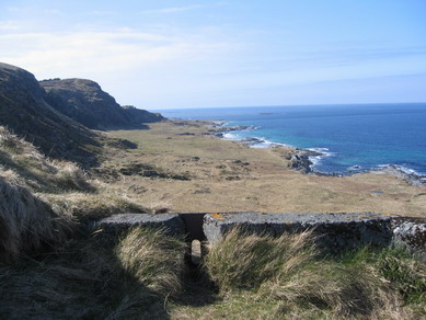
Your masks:
<svg viewBox="0 0 426 320"><path fill-rule="evenodd" d="M313 169L348 173L396 164L426 174L426 103L187 108L160 111L169 118L222 121L253 130L228 138L315 149Z"/></svg>

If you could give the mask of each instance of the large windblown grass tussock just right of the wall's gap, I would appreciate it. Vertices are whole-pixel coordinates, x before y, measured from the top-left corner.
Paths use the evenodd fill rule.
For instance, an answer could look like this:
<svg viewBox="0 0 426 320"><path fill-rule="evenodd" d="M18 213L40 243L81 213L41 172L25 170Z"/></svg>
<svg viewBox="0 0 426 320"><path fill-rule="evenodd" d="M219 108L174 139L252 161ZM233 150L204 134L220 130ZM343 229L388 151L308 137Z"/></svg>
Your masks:
<svg viewBox="0 0 426 320"><path fill-rule="evenodd" d="M237 228L214 243L205 266L221 290L258 288L278 273L290 273L314 255L310 233L279 238Z"/></svg>

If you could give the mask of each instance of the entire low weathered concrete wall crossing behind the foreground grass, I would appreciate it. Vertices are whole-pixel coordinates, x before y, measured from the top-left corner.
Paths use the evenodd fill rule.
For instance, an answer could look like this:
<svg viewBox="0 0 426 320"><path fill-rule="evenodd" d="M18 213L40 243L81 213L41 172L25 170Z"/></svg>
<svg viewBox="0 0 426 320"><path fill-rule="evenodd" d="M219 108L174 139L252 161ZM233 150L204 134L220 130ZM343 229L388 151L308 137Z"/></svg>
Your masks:
<svg viewBox="0 0 426 320"><path fill-rule="evenodd" d="M279 236L283 232L313 230L316 243L330 252L365 244L400 245L426 259L426 219L389 217L375 213L349 214L159 214L115 215L95 222L91 228L116 232L134 226L162 228L169 235L215 242L234 227L247 232Z"/></svg>

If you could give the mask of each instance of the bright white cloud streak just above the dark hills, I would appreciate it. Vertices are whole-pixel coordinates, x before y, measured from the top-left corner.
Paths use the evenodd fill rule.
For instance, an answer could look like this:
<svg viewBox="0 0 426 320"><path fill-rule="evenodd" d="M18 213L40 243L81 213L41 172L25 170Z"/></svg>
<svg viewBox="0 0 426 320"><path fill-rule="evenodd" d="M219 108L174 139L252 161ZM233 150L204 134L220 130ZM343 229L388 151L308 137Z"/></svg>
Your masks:
<svg viewBox="0 0 426 320"><path fill-rule="evenodd" d="M202 36L142 32L19 33L0 35L0 60L36 77L92 77L143 68L191 65L228 53L235 45Z"/></svg>

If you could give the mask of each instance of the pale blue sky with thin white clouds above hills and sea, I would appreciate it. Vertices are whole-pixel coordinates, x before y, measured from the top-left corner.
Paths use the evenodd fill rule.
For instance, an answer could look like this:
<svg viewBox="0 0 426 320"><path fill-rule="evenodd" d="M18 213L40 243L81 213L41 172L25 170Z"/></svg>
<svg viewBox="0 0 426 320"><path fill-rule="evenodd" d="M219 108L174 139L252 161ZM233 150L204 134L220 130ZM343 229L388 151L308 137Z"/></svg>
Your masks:
<svg viewBox="0 0 426 320"><path fill-rule="evenodd" d="M0 61L148 110L426 102L426 0L0 0Z"/></svg>

